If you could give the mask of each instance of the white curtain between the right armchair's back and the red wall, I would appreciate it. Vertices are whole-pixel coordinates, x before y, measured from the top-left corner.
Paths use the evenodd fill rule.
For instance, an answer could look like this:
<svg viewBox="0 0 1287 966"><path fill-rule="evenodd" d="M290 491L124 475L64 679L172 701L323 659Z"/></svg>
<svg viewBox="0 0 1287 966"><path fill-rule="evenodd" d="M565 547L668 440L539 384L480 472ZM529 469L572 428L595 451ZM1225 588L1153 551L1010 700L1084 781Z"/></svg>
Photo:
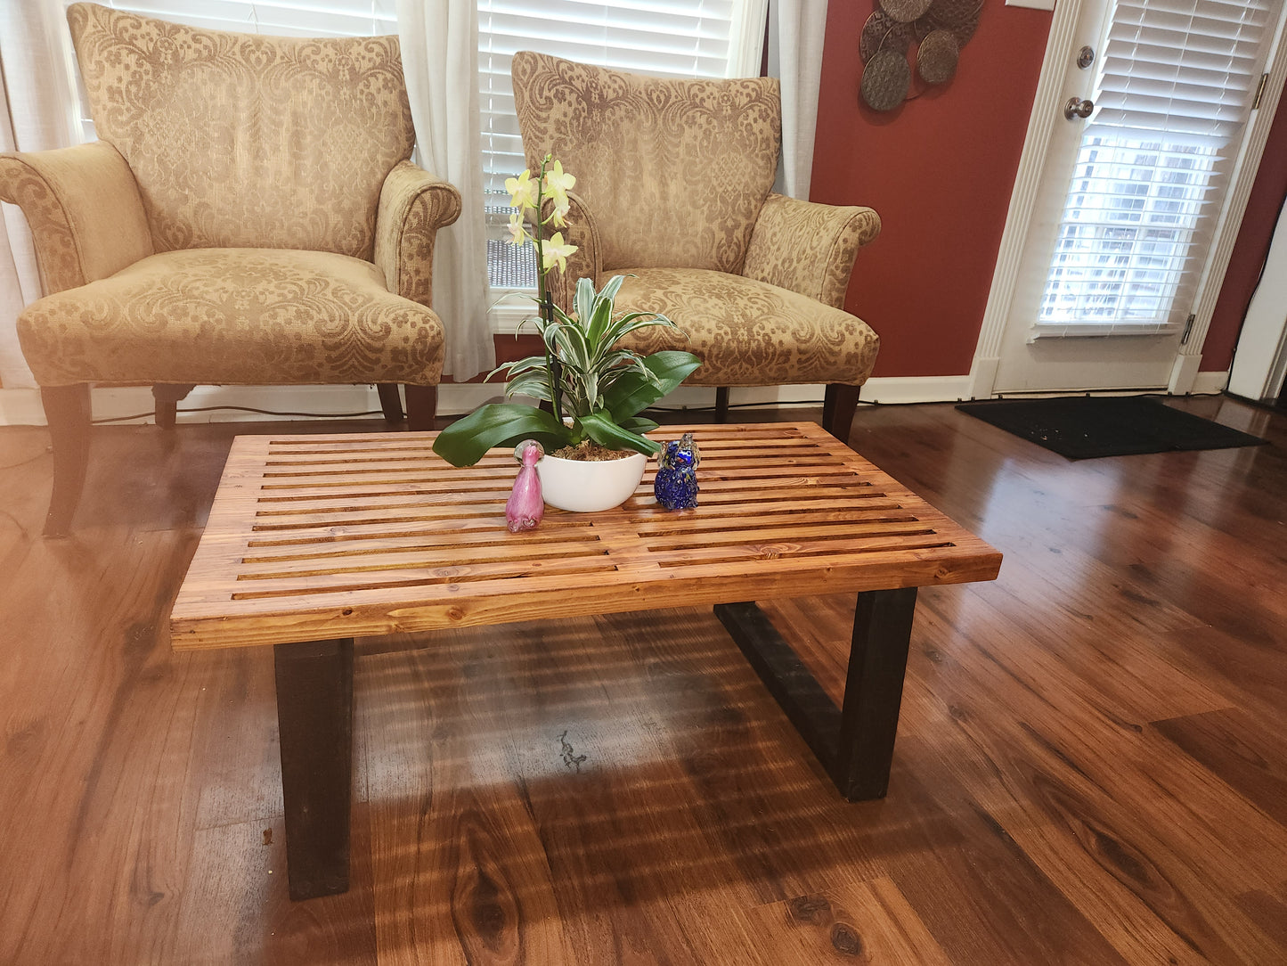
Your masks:
<svg viewBox="0 0 1287 966"><path fill-rule="evenodd" d="M782 158L773 191L808 198L826 0L770 0L768 76L782 86ZM857 43L857 41L855 41Z"/></svg>

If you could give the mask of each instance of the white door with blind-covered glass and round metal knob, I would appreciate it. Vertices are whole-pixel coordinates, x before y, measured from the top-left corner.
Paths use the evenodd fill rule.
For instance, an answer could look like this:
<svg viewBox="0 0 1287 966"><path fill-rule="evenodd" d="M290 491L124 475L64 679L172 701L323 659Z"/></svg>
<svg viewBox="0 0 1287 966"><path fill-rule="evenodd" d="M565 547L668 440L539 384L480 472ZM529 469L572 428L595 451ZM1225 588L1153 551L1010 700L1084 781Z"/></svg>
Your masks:
<svg viewBox="0 0 1287 966"><path fill-rule="evenodd" d="M1259 161L1245 155L1247 121L1283 0L1067 5L1076 15L1046 52L1062 70L1033 108L1053 120L1033 117L1024 146L1041 149L1045 120L991 389L1165 388L1223 278L1227 252L1210 267L1212 242L1237 228L1230 184ZM1015 222L1012 206L1008 236Z"/></svg>

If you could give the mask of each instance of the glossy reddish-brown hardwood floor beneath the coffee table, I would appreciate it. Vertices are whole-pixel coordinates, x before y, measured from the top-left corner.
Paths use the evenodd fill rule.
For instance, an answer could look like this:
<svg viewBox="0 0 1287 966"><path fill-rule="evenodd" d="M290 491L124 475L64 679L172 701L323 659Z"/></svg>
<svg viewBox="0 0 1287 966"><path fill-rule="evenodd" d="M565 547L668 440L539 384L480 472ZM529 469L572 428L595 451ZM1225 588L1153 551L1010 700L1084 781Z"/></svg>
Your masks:
<svg viewBox="0 0 1287 966"><path fill-rule="evenodd" d="M1287 413L1178 404L1270 444L1069 462L860 408L1005 553L920 594L883 801L709 611L359 641L353 889L305 903L272 652L166 618L232 435L336 425L97 428L62 541L45 430L0 429L0 962L1284 963ZM766 609L838 696L853 598Z"/></svg>

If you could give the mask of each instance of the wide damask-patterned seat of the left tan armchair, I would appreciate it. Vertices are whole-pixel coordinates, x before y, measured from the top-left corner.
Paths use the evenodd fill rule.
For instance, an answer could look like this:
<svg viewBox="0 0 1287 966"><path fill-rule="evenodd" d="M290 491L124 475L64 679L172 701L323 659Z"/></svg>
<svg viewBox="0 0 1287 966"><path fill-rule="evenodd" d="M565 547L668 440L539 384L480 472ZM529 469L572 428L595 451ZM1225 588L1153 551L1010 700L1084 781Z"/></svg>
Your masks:
<svg viewBox="0 0 1287 966"><path fill-rule="evenodd" d="M18 337L42 386L75 383L436 385L443 326L369 261L283 249L151 255L40 299Z"/></svg>

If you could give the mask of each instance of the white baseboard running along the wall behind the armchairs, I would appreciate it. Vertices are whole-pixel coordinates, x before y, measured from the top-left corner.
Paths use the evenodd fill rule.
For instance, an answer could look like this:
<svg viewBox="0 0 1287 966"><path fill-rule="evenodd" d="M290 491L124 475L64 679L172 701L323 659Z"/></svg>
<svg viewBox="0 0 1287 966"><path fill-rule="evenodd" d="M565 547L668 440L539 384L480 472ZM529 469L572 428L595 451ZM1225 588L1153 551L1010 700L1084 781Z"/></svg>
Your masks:
<svg viewBox="0 0 1287 966"><path fill-rule="evenodd" d="M1194 393L1220 393L1228 372L1199 372ZM920 403L969 399L969 376L889 376L867 380L864 402ZM779 403L822 404L821 385L734 386L732 406L772 407ZM444 383L438 388L438 411L444 416L470 412L485 402L499 402L499 384ZM94 419L120 420L122 425L152 422L152 390L148 386L104 388L93 393ZM710 408L716 390L680 386L662 401L667 408ZM246 412L242 406L268 412ZM211 408L208 412L190 410ZM197 386L179 403L179 422L263 422L290 419L371 419L380 413L380 398L369 385L301 386ZM134 419L122 419L134 417ZM0 426L42 426L45 411L39 389L0 389Z"/></svg>

